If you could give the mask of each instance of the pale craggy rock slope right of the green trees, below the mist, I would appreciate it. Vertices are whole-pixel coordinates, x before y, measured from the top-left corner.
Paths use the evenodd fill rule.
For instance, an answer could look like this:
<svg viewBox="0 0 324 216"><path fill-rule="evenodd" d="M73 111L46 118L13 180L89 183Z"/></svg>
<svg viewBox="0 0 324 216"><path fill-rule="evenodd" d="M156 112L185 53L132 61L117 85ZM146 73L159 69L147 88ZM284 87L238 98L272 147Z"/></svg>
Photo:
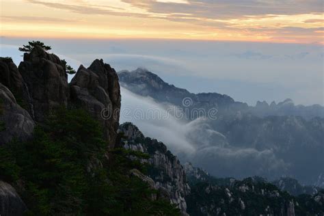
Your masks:
<svg viewBox="0 0 324 216"><path fill-rule="evenodd" d="M144 162L151 165L148 176L154 180L154 188L161 192L163 198L177 204L183 215L187 215L185 195L189 194L190 188L180 161L163 143L144 137L137 126L130 122L120 125L119 131L126 137L122 140L124 148L150 154L150 159Z"/></svg>

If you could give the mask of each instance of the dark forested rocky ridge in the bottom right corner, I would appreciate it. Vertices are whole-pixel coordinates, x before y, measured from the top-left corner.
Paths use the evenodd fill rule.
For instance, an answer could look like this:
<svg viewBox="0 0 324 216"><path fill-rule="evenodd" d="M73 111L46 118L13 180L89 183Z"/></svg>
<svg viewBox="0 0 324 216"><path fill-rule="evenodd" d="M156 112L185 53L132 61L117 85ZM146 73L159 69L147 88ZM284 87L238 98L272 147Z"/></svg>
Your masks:
<svg viewBox="0 0 324 216"><path fill-rule="evenodd" d="M190 163L185 165L185 170L191 187L191 193L186 197L190 215L290 216L324 213L323 189L312 195L294 196L257 176L243 180L215 178Z"/></svg>

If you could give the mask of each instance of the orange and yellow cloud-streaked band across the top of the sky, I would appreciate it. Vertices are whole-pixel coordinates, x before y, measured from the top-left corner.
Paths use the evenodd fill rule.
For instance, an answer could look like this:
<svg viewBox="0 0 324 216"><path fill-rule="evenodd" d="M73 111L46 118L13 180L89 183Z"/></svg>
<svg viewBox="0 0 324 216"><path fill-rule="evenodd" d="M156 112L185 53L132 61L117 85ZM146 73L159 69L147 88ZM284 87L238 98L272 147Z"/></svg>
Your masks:
<svg viewBox="0 0 324 216"><path fill-rule="evenodd" d="M1 0L1 35L323 44L322 0Z"/></svg>

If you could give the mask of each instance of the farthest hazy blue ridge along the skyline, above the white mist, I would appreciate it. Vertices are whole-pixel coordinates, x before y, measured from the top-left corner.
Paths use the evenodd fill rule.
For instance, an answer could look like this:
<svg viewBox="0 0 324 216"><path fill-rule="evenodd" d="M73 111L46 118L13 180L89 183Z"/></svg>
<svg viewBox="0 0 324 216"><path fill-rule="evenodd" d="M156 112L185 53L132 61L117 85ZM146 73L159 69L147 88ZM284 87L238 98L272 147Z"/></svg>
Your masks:
<svg viewBox="0 0 324 216"><path fill-rule="evenodd" d="M324 118L324 107L321 105L295 105L293 100L286 99L280 103L274 101L269 105L266 101L258 101L256 106L235 101L226 94L199 93L193 94L183 88L175 87L166 83L158 75L146 70L122 70L118 72L120 84L131 92L141 96L150 96L161 103L172 103L182 106L183 98L189 97L193 100L193 107L215 107L220 111L243 111L253 113L255 116L301 116L306 119L315 117Z"/></svg>

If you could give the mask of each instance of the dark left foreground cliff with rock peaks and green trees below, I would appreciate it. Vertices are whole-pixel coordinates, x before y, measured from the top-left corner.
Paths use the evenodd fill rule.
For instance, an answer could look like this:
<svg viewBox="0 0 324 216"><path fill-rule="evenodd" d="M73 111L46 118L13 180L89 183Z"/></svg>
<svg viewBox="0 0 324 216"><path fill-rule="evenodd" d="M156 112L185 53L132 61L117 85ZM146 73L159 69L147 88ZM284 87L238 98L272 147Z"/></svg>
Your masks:
<svg viewBox="0 0 324 216"><path fill-rule="evenodd" d="M0 215L180 215L170 203L183 204L172 196L185 193L180 185L171 197L150 187L139 162L148 156L120 148L120 100L102 59L68 83L64 61L41 46L18 68L1 57Z"/></svg>

